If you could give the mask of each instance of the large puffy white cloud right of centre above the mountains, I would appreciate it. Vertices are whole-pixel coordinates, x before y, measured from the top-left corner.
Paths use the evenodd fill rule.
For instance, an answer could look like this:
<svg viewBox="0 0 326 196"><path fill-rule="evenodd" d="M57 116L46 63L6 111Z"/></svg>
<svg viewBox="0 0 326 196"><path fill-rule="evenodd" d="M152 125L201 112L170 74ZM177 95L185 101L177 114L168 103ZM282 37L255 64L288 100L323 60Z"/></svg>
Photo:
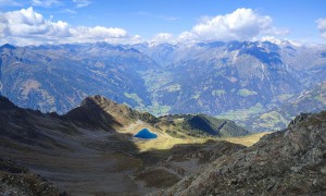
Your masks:
<svg viewBox="0 0 326 196"><path fill-rule="evenodd" d="M287 29L274 27L268 15L261 15L251 9L238 9L226 15L203 17L189 32L179 35L179 41L187 40L250 40L260 35L286 35Z"/></svg>

